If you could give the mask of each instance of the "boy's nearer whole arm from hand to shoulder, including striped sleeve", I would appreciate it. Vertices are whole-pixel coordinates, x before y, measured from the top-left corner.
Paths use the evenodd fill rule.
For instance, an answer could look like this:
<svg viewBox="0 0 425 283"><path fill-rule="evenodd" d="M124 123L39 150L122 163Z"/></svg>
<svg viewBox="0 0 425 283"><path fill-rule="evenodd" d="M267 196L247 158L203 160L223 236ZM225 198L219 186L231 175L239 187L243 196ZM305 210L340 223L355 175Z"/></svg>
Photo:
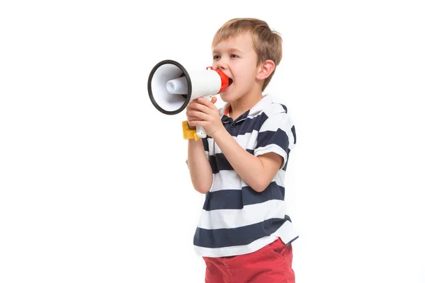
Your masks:
<svg viewBox="0 0 425 283"><path fill-rule="evenodd" d="M283 108L273 110L271 116L268 116L256 132L256 148L252 155L227 132L213 103L198 98L197 103L193 103L191 107L193 110L188 111L188 114L196 119L189 121L188 124L205 129L234 171L253 190L257 192L266 190L278 170L285 165L290 148L295 144L295 128L292 127Z"/></svg>

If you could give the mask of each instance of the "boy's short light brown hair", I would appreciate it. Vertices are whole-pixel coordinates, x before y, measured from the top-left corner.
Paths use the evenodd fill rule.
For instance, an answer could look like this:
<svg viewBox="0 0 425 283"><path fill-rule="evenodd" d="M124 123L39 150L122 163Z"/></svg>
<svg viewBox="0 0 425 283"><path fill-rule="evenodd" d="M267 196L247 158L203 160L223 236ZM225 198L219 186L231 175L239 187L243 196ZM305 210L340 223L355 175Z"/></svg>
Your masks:
<svg viewBox="0 0 425 283"><path fill-rule="evenodd" d="M276 30L271 30L265 21L261 21L258 18L233 18L227 21L215 33L212 39L212 48L222 40L227 40L246 32L251 32L254 50L258 57L257 64L270 59L277 67L282 59L282 37ZM264 91L271 81L276 67L270 76L264 80L261 91Z"/></svg>

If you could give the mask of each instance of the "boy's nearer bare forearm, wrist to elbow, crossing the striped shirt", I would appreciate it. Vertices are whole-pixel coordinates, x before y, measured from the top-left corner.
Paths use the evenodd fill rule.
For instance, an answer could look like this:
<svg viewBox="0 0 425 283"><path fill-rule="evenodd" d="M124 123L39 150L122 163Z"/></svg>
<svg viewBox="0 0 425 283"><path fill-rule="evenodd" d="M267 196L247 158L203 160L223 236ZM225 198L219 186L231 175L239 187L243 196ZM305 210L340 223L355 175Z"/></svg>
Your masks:
<svg viewBox="0 0 425 283"><path fill-rule="evenodd" d="M246 184L257 192L266 189L273 177L266 172L260 158L242 148L225 129L217 131L213 138L234 171Z"/></svg>

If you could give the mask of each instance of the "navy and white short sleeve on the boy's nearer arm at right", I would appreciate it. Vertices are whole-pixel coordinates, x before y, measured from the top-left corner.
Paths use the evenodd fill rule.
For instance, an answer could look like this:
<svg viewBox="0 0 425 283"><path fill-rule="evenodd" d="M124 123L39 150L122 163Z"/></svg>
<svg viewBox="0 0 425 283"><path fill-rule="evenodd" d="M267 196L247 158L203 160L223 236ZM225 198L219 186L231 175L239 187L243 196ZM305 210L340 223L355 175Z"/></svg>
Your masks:
<svg viewBox="0 0 425 283"><path fill-rule="evenodd" d="M274 152L283 157L282 169L288 161L290 150L296 144L295 125L287 112L278 112L267 118L261 125L254 156Z"/></svg>

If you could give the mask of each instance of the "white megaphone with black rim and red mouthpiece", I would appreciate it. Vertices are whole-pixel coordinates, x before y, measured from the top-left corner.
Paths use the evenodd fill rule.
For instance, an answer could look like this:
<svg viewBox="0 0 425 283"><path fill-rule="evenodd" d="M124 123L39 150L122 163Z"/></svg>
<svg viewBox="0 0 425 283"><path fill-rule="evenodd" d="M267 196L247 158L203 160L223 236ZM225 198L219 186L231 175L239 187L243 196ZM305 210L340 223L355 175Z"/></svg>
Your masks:
<svg viewBox="0 0 425 283"><path fill-rule="evenodd" d="M156 64L149 74L147 91L157 110L166 115L175 115L183 111L196 98L215 96L229 86L229 78L219 70L207 67L204 70L190 70L174 60L164 60ZM188 129L183 121L183 138L205 138L203 127L196 132ZM196 135L192 135L195 134Z"/></svg>

